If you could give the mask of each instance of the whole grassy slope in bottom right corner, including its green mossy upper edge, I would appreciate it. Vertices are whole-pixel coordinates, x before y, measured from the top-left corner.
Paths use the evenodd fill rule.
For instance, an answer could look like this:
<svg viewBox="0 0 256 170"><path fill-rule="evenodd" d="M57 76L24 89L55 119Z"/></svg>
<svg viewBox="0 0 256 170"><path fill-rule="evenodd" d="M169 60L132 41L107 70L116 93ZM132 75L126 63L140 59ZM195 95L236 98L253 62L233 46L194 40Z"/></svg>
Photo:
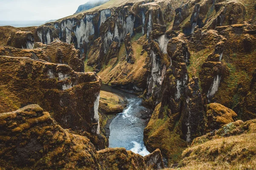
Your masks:
<svg viewBox="0 0 256 170"><path fill-rule="evenodd" d="M206 135L195 139L192 146L183 152L180 168L175 169L255 169L256 119L224 125L215 136L211 137L212 139L207 138Z"/></svg>

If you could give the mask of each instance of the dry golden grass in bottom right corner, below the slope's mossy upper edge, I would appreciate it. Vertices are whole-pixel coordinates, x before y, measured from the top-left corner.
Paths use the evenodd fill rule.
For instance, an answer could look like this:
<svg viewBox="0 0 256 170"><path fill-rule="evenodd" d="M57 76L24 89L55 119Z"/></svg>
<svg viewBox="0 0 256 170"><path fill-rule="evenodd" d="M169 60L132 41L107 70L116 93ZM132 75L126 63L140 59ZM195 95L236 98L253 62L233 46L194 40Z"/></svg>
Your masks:
<svg viewBox="0 0 256 170"><path fill-rule="evenodd" d="M248 133L190 147L183 152L184 159L181 164L185 166L177 169L253 170L256 167L255 141L256 133Z"/></svg>

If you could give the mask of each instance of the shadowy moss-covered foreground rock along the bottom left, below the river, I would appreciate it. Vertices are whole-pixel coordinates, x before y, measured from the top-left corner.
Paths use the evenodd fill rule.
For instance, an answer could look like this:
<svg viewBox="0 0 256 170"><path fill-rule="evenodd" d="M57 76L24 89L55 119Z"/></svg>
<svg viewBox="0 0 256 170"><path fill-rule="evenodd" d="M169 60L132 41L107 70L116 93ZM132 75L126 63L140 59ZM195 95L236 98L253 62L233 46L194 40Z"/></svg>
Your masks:
<svg viewBox="0 0 256 170"><path fill-rule="evenodd" d="M3 169L145 170L146 164L163 168L160 150L147 159L124 148L97 152L87 137L63 129L38 105L1 113L0 128Z"/></svg>

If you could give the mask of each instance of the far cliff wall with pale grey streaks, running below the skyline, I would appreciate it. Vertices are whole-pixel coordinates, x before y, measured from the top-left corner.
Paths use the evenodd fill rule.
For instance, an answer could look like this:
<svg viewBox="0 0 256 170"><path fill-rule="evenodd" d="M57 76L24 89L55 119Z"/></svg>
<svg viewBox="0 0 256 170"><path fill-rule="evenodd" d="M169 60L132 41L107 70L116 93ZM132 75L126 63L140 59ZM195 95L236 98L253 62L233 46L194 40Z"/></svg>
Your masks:
<svg viewBox="0 0 256 170"><path fill-rule="evenodd" d="M93 10L40 26L36 37L43 43L50 43L55 38L73 42L87 58L86 70L99 72L106 84L139 91L147 89L150 98L152 91L159 91L163 76L171 64L166 49L170 38L177 36L174 31L180 30L190 35L198 28L215 29L250 19L250 23L255 23L255 16L253 2L243 0L236 3L191 0L131 0L118 3L111 0ZM154 28L154 24L159 26L155 25ZM131 40L126 39L128 34ZM142 39L143 35L146 39ZM132 53L125 48L127 43L123 42L130 43ZM139 56L140 59L137 59ZM134 63L145 68L139 75L134 73L137 70ZM145 70L148 72L145 73ZM218 75L223 74L223 69L221 71ZM131 79L121 81L120 76ZM218 84L221 78L218 76L214 79ZM212 89L209 95L215 90Z"/></svg>

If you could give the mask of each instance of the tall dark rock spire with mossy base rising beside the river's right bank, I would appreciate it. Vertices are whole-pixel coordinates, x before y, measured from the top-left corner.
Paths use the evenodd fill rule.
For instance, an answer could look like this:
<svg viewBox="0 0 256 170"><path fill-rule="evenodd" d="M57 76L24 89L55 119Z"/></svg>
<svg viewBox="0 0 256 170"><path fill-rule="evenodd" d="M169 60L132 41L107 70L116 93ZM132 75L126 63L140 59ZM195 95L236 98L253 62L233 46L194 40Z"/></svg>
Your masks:
<svg viewBox="0 0 256 170"><path fill-rule="evenodd" d="M184 34L169 40L167 51L172 65L161 85L161 103L144 130L144 141L149 150L160 148L167 158L171 158L182 152L186 142L204 133L205 111L198 78L188 77L190 53ZM166 135L171 139L166 140L163 137Z"/></svg>

